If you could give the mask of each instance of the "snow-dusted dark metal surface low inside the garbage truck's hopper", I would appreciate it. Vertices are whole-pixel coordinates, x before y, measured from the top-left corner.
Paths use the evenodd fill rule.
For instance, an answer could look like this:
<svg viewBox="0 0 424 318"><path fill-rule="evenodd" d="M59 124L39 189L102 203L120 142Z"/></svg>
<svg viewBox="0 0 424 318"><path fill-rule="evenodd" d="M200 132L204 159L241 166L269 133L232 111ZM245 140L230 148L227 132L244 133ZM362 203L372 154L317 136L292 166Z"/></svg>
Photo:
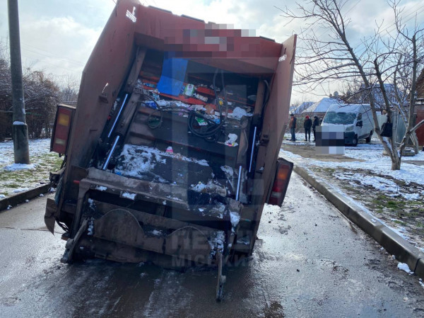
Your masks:
<svg viewBox="0 0 424 318"><path fill-rule="evenodd" d="M238 179L238 171L230 166L215 165L204 159L189 158L153 147L125 144L114 173L187 188L187 195L176 191L167 198L186 201L197 215L228 218L232 227L236 227L240 220L237 207L228 204L228 198L235 195Z"/></svg>

